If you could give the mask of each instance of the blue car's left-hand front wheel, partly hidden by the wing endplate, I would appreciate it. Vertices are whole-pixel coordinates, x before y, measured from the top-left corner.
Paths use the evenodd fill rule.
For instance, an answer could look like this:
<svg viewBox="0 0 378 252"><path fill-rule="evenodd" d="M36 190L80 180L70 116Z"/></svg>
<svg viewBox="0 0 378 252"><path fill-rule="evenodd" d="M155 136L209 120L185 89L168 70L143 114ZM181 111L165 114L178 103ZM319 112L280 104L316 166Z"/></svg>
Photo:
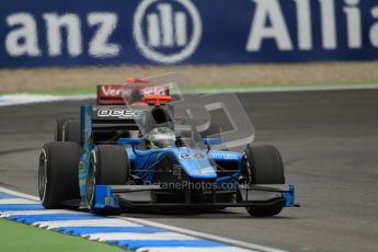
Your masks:
<svg viewBox="0 0 378 252"><path fill-rule="evenodd" d="M95 185L125 185L129 176L129 161L125 148L99 145L89 159L87 204L98 215L121 214L118 208L95 208Z"/></svg>

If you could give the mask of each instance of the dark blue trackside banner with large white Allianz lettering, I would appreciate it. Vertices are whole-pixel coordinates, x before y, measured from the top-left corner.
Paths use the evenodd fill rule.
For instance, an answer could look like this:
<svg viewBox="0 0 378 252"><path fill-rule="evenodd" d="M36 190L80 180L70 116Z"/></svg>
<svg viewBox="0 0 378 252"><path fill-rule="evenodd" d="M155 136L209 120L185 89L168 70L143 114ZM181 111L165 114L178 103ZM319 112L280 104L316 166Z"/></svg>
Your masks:
<svg viewBox="0 0 378 252"><path fill-rule="evenodd" d="M2 0L0 68L378 59L378 0Z"/></svg>

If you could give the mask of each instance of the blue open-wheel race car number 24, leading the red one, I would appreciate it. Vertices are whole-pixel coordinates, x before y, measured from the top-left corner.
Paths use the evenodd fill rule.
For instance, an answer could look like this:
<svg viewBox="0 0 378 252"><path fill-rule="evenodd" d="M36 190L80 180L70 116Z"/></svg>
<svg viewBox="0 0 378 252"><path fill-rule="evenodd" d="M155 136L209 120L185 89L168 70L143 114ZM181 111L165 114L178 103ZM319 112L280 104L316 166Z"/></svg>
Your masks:
<svg viewBox="0 0 378 252"><path fill-rule="evenodd" d="M114 215L245 207L251 216L274 216L297 206L275 147L213 149L221 134L204 137L190 123L179 125L169 96L145 100L150 105L81 106L80 121L65 124L65 134L76 137L44 145L38 193L45 208Z"/></svg>

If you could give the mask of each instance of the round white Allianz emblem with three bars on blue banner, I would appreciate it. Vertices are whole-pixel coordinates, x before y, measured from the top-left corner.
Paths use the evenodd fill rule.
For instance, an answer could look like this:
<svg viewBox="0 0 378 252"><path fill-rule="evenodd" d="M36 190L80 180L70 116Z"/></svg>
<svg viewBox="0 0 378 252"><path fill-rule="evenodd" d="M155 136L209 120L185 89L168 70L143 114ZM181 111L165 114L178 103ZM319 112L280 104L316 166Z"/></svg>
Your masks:
<svg viewBox="0 0 378 252"><path fill-rule="evenodd" d="M134 15L137 46L145 57L162 64L193 55L202 30L198 10L190 0L144 0Z"/></svg>

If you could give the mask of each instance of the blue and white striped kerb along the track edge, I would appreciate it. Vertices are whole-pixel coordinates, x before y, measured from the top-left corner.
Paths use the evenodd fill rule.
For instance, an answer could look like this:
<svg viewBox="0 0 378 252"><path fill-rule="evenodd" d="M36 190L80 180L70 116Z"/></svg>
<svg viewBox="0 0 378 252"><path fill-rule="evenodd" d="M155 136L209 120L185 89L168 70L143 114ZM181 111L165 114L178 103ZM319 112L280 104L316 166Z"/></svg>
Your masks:
<svg viewBox="0 0 378 252"><path fill-rule="evenodd" d="M78 210L48 210L34 197L12 194L1 187L0 218L137 252L279 251L238 248L226 242L145 224L134 218L102 217Z"/></svg>

